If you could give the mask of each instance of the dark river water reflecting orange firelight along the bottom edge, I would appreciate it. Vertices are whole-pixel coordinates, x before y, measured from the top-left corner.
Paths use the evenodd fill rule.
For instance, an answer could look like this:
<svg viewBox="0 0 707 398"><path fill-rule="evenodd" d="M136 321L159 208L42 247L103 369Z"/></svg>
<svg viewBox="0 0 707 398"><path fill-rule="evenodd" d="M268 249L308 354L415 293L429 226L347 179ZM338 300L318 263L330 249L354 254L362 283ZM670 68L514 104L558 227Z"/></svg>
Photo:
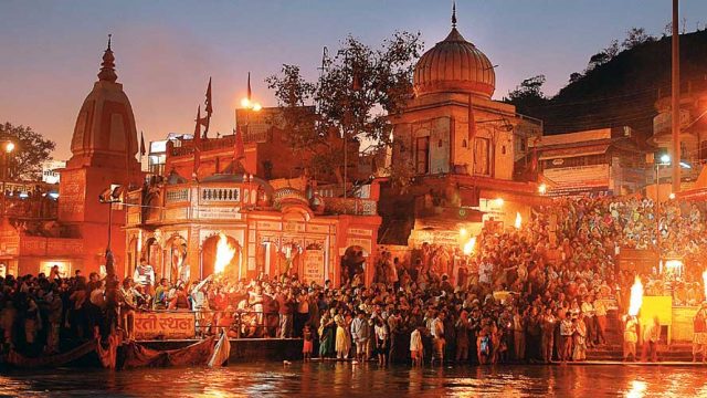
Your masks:
<svg viewBox="0 0 707 398"><path fill-rule="evenodd" d="M707 367L584 365L425 367L232 364L223 368L0 375L3 397L707 397Z"/></svg>

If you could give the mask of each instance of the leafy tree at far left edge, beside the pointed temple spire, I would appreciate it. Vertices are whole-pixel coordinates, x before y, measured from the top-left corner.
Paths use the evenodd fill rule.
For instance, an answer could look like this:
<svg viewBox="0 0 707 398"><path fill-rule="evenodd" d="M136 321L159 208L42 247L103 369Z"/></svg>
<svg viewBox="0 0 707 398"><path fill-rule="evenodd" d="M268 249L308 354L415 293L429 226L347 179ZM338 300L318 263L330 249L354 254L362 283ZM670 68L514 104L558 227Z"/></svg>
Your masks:
<svg viewBox="0 0 707 398"><path fill-rule="evenodd" d="M56 143L44 138L29 126L13 126L9 122L0 124L0 139L11 140L15 147L9 157L9 178L40 180L42 164L52 159Z"/></svg>

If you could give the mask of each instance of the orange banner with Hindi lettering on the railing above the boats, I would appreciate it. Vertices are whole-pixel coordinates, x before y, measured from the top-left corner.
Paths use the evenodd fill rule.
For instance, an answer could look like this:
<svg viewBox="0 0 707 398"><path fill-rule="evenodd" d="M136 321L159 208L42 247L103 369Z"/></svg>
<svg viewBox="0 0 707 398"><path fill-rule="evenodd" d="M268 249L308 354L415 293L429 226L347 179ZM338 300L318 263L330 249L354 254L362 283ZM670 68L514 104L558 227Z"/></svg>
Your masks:
<svg viewBox="0 0 707 398"><path fill-rule="evenodd" d="M135 314L135 339L194 338L192 312L144 312Z"/></svg>

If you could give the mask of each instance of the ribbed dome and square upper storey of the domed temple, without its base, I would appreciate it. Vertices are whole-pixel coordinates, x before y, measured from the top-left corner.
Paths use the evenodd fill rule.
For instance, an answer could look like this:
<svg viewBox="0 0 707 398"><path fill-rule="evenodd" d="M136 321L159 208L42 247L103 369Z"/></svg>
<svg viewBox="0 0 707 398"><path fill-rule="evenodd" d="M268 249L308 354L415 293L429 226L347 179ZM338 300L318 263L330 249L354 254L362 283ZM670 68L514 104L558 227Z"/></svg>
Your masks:
<svg viewBox="0 0 707 398"><path fill-rule="evenodd" d="M413 72L413 97L393 119L392 164L415 176L513 178L515 107L492 100L494 65L456 27Z"/></svg>

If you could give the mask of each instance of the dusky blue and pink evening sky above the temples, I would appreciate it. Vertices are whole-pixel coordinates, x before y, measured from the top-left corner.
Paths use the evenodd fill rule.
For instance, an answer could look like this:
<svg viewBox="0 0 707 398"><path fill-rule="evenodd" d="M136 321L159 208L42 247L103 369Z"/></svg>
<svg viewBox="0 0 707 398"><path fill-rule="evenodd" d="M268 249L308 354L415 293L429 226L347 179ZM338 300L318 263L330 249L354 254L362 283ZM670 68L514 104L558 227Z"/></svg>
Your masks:
<svg viewBox="0 0 707 398"><path fill-rule="evenodd" d="M458 28L498 64L500 98L546 74L547 94L591 54L632 27L659 35L669 0L460 0ZM685 29L707 22L706 0L683 0ZM263 80L283 63L316 76L321 48L348 33L378 45L395 30L420 31L429 49L450 30L445 0L33 1L0 0L0 122L30 125L70 156L76 114L113 33L118 82L147 139L191 133L213 76L212 130L228 134L245 94L275 105Z"/></svg>

